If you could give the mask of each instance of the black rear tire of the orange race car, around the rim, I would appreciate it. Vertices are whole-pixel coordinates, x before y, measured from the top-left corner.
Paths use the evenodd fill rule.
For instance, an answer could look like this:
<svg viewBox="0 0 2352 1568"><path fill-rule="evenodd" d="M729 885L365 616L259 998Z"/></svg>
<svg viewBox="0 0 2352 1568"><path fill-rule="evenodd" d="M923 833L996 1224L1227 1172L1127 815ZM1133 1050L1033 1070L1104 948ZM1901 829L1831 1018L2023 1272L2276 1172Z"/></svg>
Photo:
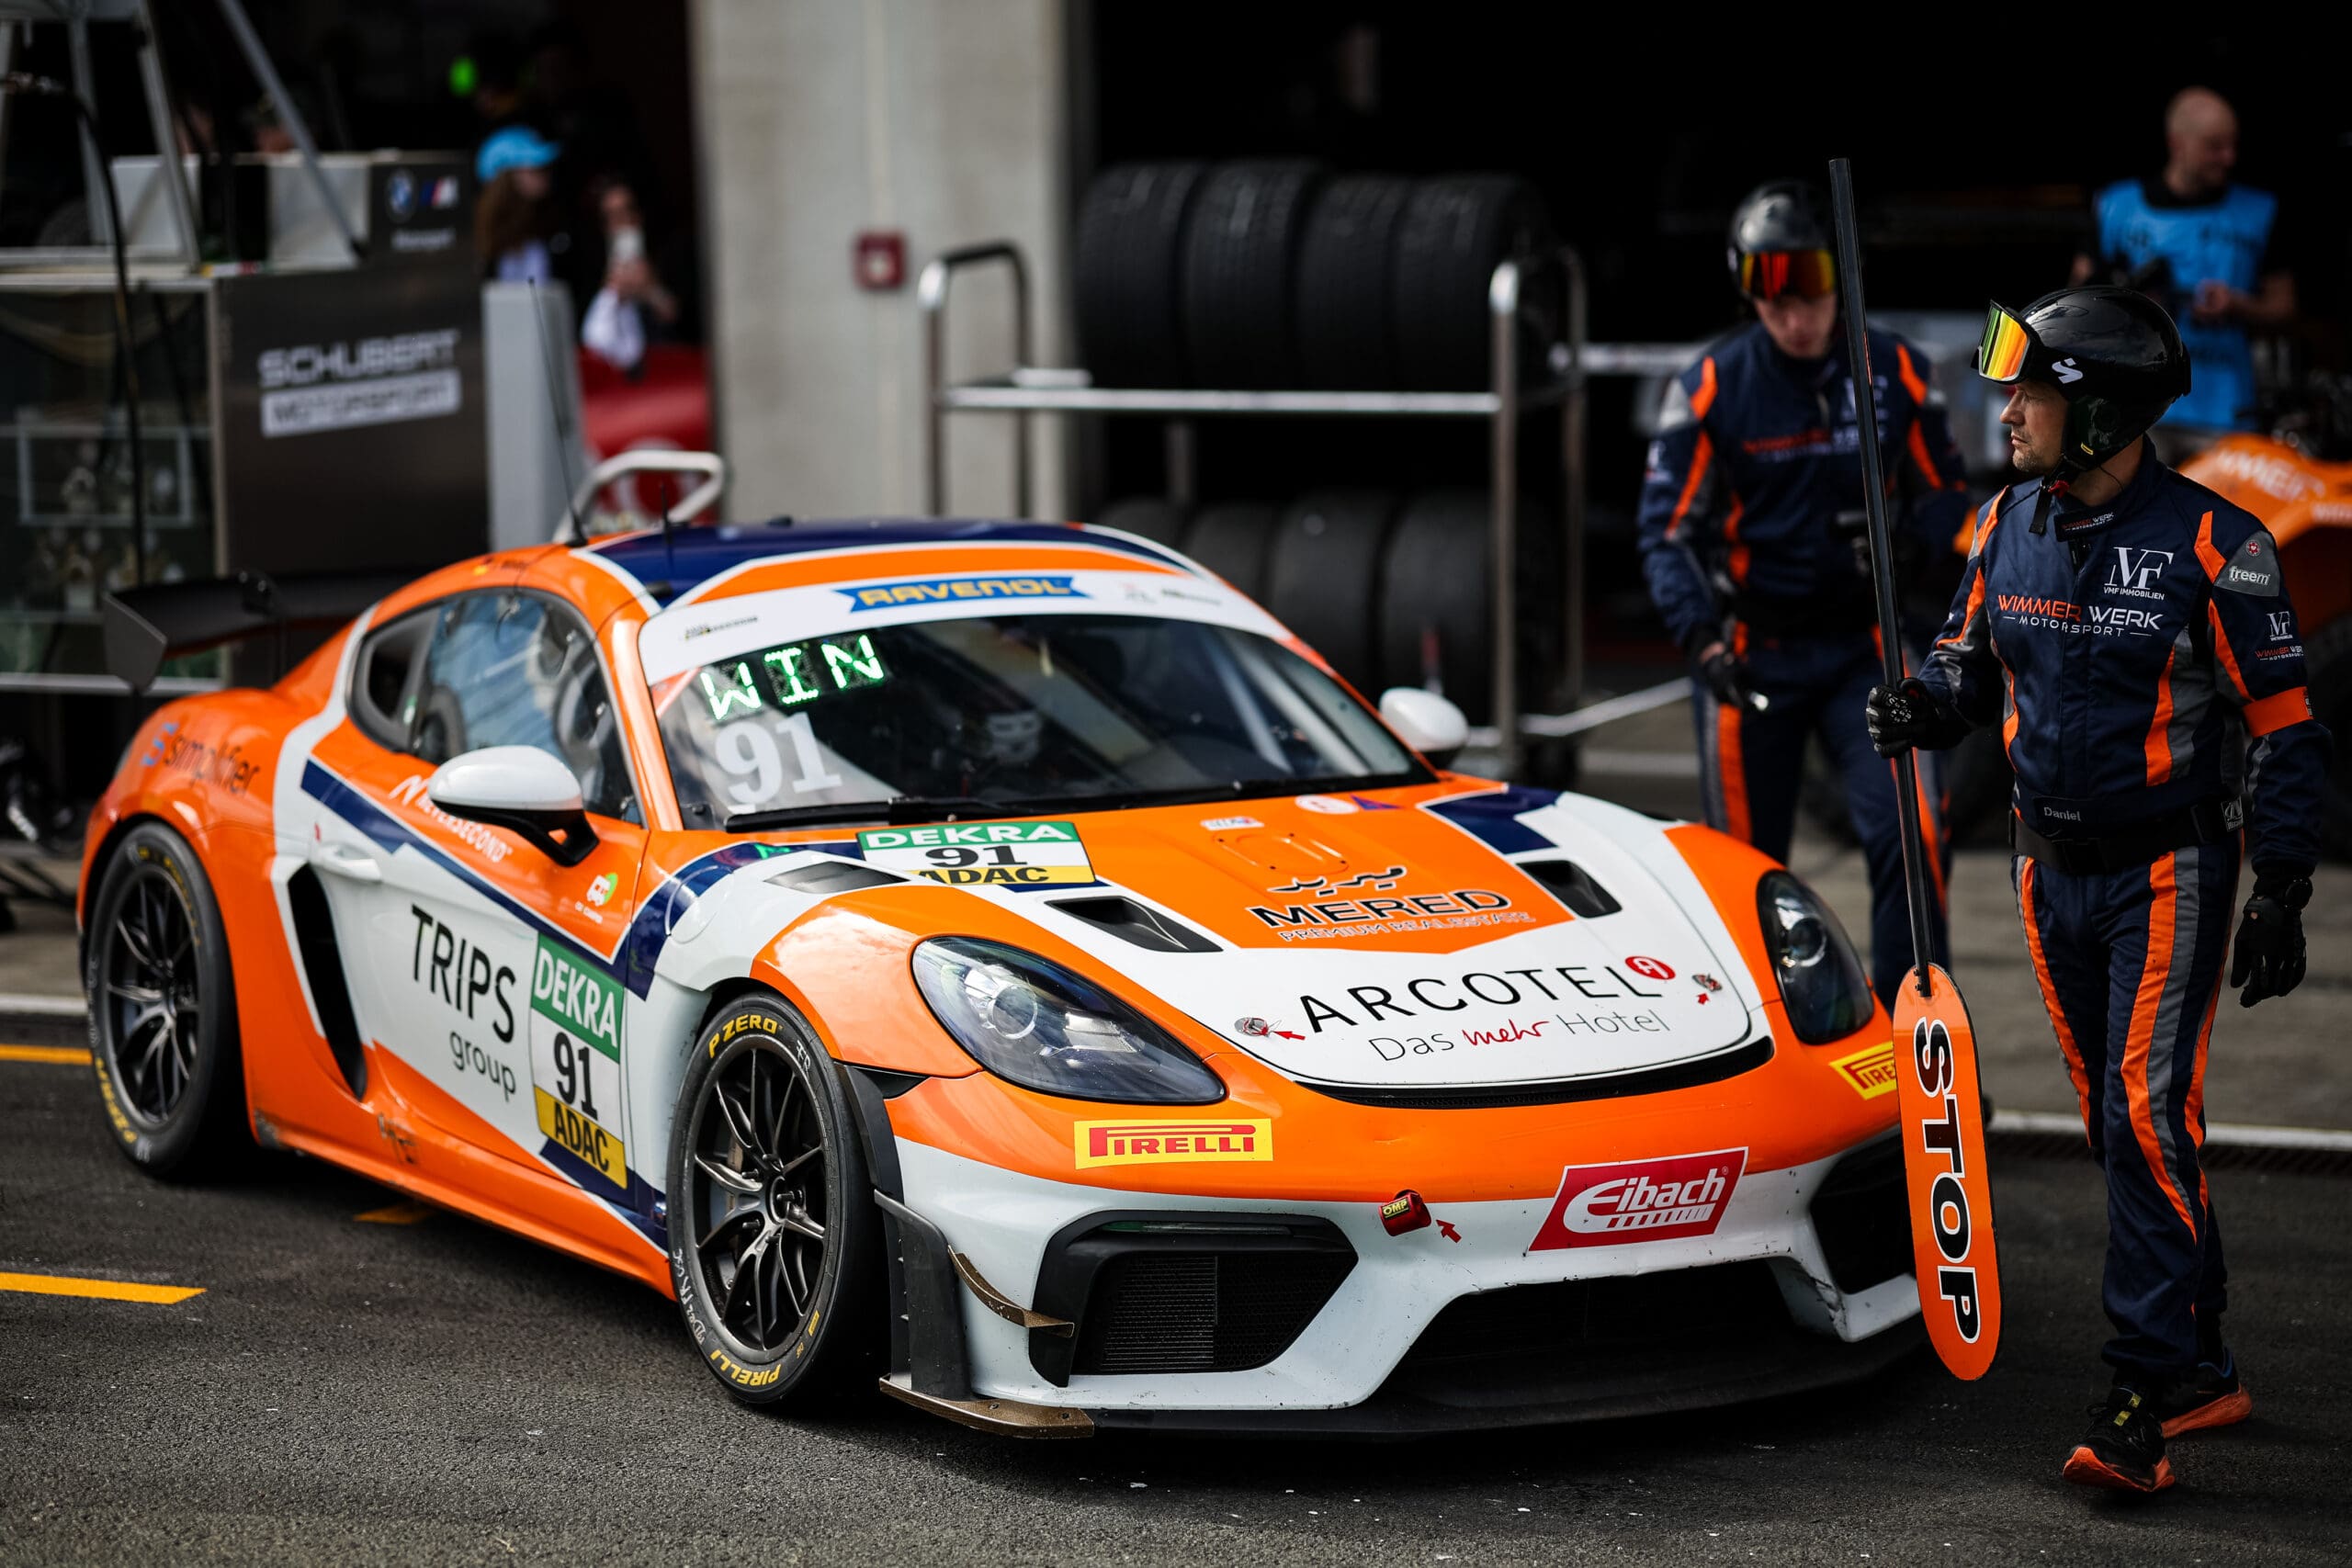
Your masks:
<svg viewBox="0 0 2352 1568"><path fill-rule="evenodd" d="M160 872L160 879L148 877ZM129 1088L115 1063L113 1018L106 1001L106 959L115 922L139 882L158 882L179 903L195 945L198 1041L188 1088L160 1119L132 1112ZM89 1067L99 1105L122 1154L148 1175L202 1178L252 1150L245 1107L245 1053L238 1039L238 994L228 964L228 933L212 879L183 837L162 823L139 823L115 844L89 905L82 943L82 994L89 999Z"/></svg>

